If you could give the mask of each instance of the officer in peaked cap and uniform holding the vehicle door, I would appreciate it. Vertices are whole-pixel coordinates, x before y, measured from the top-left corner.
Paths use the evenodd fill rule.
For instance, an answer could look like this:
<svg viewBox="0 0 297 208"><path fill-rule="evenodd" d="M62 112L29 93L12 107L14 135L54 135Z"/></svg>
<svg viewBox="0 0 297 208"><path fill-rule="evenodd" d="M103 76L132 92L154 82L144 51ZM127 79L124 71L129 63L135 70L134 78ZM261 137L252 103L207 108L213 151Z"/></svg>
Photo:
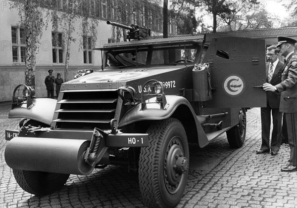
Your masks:
<svg viewBox="0 0 297 208"><path fill-rule="evenodd" d="M297 171L297 54L294 52L297 40L278 36L277 48L285 57L282 82L273 86L264 83L265 91L281 92L280 111L286 115L290 145L290 164L281 169L284 172Z"/></svg>

